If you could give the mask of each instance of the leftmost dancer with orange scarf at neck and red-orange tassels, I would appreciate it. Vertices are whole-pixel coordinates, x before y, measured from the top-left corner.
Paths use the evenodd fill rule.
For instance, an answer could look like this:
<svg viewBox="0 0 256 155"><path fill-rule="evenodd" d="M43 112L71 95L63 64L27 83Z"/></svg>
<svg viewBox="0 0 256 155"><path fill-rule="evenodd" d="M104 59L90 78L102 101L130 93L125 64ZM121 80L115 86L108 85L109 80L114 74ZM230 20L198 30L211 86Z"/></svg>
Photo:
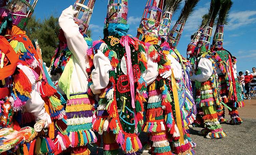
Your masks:
<svg viewBox="0 0 256 155"><path fill-rule="evenodd" d="M1 17L3 17L1 35L8 37L9 45L19 59L16 65L17 69L12 75L15 76L13 81L11 80L13 84L9 84L12 87L9 101L15 112L14 119L18 122L16 128L36 121L34 128L37 132L43 128L48 129L47 133L42 131L38 134L40 137L31 138L20 145L18 149L16 148L17 154L28 153L28 150L31 154L37 153L38 150L38 154L55 152L56 147L52 140L64 133L67 127L65 111L61 105L65 100L62 100L56 89L48 83L51 80L48 81L44 76L42 61L26 36L26 32L23 31L36 3L37 1L33 1L30 5L27 1L12 0L7 6L1 8ZM27 8L29 9L27 10ZM25 108L23 109L22 106ZM55 132L58 133L58 130L61 133L55 134ZM35 146L35 143L38 147ZM41 150L41 146L45 146L46 149Z"/></svg>

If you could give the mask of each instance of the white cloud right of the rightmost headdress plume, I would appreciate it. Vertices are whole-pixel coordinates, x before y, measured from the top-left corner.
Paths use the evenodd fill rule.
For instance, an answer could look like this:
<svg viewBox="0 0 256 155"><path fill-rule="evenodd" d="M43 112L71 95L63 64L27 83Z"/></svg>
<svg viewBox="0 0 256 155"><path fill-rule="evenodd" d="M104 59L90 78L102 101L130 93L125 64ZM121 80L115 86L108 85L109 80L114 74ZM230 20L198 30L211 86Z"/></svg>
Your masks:
<svg viewBox="0 0 256 155"><path fill-rule="evenodd" d="M229 14L229 24L227 25L227 30L234 30L255 23L256 11L246 10L239 12L231 12Z"/></svg>

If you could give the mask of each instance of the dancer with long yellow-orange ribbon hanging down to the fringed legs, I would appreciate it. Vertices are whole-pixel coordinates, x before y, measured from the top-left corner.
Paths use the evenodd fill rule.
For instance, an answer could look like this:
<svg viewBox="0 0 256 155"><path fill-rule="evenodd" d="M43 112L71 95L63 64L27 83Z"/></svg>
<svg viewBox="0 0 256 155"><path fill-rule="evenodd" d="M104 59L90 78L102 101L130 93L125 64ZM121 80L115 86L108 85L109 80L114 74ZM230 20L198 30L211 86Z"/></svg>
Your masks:
<svg viewBox="0 0 256 155"><path fill-rule="evenodd" d="M160 5L162 2L158 3ZM179 99L175 84L175 79L181 78L181 65L170 56L169 51L162 50L157 45L162 12L157 8L158 5L156 4L158 3L154 1L152 6L150 6L151 4L146 5L137 35L149 46L149 60L158 64L158 76L148 86L149 97L145 106L147 108L147 120L144 123L143 131L151 135L150 140L152 141L151 146L154 154L171 153L171 150L169 150L170 144L167 145L169 143L168 137L171 137L171 141L172 139L176 140L175 144L172 143L175 145L172 151L175 154L185 154L190 152L191 145L187 140L184 140ZM147 18L147 14L150 14L150 18ZM170 20L167 19L167 21ZM171 81L174 83L171 83ZM174 92L170 90L174 90ZM173 113L174 110L179 112ZM175 118L173 117L174 115L176 116ZM160 128L159 122L165 128ZM155 126L157 127L156 130L154 129Z"/></svg>

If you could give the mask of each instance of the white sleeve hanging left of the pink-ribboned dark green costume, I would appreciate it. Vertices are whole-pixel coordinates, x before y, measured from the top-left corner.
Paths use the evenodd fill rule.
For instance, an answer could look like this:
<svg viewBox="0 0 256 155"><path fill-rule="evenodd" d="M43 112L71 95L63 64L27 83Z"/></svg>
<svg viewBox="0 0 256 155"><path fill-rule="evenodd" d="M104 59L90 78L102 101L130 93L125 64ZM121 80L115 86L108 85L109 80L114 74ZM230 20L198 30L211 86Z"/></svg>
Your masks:
<svg viewBox="0 0 256 155"><path fill-rule="evenodd" d="M94 94L100 94L101 89L104 89L109 84L109 72L112 69L109 59L99 49L95 54L93 63L95 69L91 72L93 84L90 85Z"/></svg>

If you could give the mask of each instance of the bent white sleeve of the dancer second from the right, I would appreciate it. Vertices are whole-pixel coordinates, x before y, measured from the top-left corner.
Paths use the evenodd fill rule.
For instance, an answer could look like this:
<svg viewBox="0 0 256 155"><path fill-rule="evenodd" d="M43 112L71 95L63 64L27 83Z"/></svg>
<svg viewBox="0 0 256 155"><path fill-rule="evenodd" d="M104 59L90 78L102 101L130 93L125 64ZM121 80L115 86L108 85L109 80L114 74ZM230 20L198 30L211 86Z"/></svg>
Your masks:
<svg viewBox="0 0 256 155"><path fill-rule="evenodd" d="M201 74L195 75L190 77L192 81L199 81L199 82L204 82L207 81L211 76L213 72L212 68L212 62L207 59L207 58L201 58L199 63L198 63L198 68L201 70Z"/></svg>

